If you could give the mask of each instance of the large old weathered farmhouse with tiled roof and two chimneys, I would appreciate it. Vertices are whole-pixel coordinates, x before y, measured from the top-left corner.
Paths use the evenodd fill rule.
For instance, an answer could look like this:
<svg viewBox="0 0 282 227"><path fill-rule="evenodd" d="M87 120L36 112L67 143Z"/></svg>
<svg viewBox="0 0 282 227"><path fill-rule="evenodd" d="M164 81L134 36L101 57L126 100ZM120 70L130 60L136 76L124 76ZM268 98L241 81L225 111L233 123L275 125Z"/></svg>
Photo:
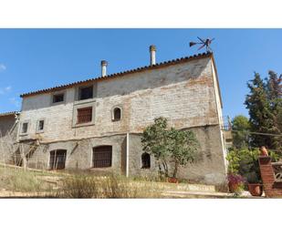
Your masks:
<svg viewBox="0 0 282 227"><path fill-rule="evenodd" d="M193 130L201 145L202 159L181 168L178 177L225 182L213 53L156 63L156 47L150 46L150 58L149 66L112 75L101 61L100 77L21 95L16 142L24 151L17 149L17 157L28 167L47 170L157 174L156 161L142 150L141 133L153 119L165 117L170 126Z"/></svg>

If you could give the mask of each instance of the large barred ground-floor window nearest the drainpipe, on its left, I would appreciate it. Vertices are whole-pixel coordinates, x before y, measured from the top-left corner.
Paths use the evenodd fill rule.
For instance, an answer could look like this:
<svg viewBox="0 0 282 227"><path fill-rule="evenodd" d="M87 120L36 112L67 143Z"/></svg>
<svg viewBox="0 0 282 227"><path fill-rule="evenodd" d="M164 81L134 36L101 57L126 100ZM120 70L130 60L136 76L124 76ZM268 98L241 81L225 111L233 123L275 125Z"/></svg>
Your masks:
<svg viewBox="0 0 282 227"><path fill-rule="evenodd" d="M111 166L111 146L93 148L93 167L106 168Z"/></svg>

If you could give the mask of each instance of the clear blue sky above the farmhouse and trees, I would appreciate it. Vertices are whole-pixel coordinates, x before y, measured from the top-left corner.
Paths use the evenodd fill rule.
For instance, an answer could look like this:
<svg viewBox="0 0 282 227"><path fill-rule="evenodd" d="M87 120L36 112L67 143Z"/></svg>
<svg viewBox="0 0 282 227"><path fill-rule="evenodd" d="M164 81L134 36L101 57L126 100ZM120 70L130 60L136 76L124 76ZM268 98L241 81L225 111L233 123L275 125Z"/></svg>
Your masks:
<svg viewBox="0 0 282 227"><path fill-rule="evenodd" d="M189 41L215 37L212 45L224 115L247 116L247 80L254 71L282 73L282 29L0 29L0 112L19 110L19 95L198 53Z"/></svg>

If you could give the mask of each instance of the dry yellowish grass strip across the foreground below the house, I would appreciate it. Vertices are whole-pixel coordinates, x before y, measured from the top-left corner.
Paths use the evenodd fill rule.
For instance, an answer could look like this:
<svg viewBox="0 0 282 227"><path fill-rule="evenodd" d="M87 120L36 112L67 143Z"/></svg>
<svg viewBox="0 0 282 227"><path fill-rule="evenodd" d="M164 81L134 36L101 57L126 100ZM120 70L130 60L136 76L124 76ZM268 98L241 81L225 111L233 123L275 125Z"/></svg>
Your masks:
<svg viewBox="0 0 282 227"><path fill-rule="evenodd" d="M189 194L188 186L185 182L173 184L149 177L105 176L88 171L53 173L0 166L0 196L12 191L12 196L18 192L18 197L29 198L216 198Z"/></svg>

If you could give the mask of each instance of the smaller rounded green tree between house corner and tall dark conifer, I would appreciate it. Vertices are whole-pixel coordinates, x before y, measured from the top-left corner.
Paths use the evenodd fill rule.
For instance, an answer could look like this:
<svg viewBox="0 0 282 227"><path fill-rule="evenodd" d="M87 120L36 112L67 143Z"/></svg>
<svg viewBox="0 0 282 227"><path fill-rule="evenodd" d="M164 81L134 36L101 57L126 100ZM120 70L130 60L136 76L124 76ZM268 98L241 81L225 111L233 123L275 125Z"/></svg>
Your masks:
<svg viewBox="0 0 282 227"><path fill-rule="evenodd" d="M235 149L248 147L250 124L249 119L238 115L232 120L232 137Z"/></svg>

